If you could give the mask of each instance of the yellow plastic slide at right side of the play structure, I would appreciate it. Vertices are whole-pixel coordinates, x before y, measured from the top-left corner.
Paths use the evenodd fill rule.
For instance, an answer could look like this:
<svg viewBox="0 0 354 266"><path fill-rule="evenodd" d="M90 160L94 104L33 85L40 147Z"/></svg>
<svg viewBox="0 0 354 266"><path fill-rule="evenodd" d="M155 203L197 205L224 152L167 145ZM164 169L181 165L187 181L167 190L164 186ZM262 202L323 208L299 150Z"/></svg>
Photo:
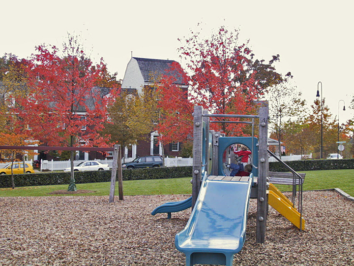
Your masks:
<svg viewBox="0 0 354 266"><path fill-rule="evenodd" d="M293 203L273 184L269 184L268 204L300 229L300 213L293 208ZM303 218L301 219L301 230L305 230L305 220Z"/></svg>

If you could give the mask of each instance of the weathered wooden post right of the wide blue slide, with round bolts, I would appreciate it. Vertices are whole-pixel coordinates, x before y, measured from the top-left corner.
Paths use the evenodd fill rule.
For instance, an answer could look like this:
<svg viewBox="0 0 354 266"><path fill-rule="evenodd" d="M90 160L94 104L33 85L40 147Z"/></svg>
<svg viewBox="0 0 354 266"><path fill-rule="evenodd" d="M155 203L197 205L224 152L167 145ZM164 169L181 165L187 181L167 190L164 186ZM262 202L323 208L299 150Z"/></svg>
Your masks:
<svg viewBox="0 0 354 266"><path fill-rule="evenodd" d="M258 194L257 194L257 231L256 242L264 243L266 236L266 177L269 174L268 166L268 108L261 107L259 113L259 149L258 149Z"/></svg>

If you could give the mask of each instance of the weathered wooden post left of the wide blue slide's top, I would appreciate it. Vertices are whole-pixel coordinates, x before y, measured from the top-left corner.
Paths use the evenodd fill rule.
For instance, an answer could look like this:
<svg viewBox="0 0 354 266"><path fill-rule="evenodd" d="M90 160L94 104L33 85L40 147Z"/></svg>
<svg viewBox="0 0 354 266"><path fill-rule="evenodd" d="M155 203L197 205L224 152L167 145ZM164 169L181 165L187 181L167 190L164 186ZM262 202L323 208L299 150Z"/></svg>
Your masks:
<svg viewBox="0 0 354 266"><path fill-rule="evenodd" d="M192 209L197 201L202 177L203 108L194 106Z"/></svg>

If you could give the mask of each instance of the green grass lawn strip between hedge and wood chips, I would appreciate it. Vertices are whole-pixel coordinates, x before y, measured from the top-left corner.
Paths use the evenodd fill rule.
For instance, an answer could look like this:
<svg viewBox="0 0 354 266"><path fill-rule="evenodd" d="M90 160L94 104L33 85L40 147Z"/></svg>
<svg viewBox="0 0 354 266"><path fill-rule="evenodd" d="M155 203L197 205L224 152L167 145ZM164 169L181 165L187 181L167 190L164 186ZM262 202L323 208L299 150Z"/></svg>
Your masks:
<svg viewBox="0 0 354 266"><path fill-rule="evenodd" d="M303 171L301 171L303 172ZM305 171L306 177L303 185L304 190L318 190L339 188L351 196L354 196L354 169L346 170L322 170ZM124 195L170 195L192 194L191 177L154 180L131 180L123 181ZM108 196L110 182L77 184L78 190L90 190L93 193L74 194L85 196ZM276 185L281 191L291 191L291 186ZM53 196L49 193L57 190L67 190L68 185L19 187L15 189L0 188L0 197L30 197L30 196ZM116 183L115 195L118 195L118 182ZM72 196L55 194L54 196Z"/></svg>

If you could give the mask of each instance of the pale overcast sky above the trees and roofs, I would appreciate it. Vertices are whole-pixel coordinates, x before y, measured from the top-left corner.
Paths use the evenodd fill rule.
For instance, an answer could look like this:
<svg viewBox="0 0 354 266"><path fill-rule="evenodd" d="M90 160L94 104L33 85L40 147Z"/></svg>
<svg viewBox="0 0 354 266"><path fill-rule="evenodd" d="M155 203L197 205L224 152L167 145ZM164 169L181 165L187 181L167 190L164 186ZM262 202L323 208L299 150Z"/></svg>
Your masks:
<svg viewBox="0 0 354 266"><path fill-rule="evenodd" d="M320 0L12 0L1 3L0 56L27 58L43 43L61 45L67 33L80 34L91 57L104 58L123 78L133 56L178 61L177 38L203 23L203 33L225 25L240 29L256 58L280 54L276 68L291 71L308 103L317 85L340 122L354 118L354 1ZM320 90L321 93L321 90ZM343 111L345 100L346 111Z"/></svg>

